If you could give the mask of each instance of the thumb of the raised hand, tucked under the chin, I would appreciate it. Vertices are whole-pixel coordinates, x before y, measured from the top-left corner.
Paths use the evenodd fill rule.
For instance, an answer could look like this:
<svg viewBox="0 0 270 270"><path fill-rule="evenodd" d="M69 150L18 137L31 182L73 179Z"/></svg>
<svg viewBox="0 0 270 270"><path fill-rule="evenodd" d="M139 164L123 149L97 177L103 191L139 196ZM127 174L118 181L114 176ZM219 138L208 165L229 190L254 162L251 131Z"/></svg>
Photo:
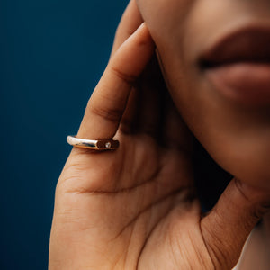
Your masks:
<svg viewBox="0 0 270 270"><path fill-rule="evenodd" d="M215 269L231 269L257 222L270 207L270 193L233 179L201 221L202 237Z"/></svg>

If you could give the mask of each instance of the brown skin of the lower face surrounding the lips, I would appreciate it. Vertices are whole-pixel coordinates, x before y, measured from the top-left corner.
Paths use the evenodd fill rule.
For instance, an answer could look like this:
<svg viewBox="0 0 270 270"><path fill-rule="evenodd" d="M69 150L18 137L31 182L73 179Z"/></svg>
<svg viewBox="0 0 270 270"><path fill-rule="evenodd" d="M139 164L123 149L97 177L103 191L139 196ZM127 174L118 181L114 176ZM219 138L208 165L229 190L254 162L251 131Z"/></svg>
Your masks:
<svg viewBox="0 0 270 270"><path fill-rule="evenodd" d="M138 0L139 10L157 44L166 84L184 121L211 157L231 175L270 189L270 99L238 98L237 91L220 93L211 70L202 68L203 53L241 29L270 34L267 0ZM257 39L256 33L254 39ZM268 38L267 38L268 39ZM250 54L257 54L258 44ZM237 48L235 42L231 47ZM261 46L260 46L261 45ZM245 44L242 46L245 49ZM238 49L239 51L241 49ZM269 49L268 49L269 50ZM269 55L269 53L268 53ZM269 60L269 58L268 58ZM244 61L247 61L246 59ZM249 60L252 63L253 59ZM241 62L241 61L239 61ZM246 68L246 69L245 69ZM248 77L253 70L241 69ZM270 69L266 70L268 77ZM260 73L258 74L260 76ZM260 87L257 83L257 87ZM268 82L269 85L269 82ZM233 88L233 87L232 87ZM268 86L268 93L270 92Z"/></svg>

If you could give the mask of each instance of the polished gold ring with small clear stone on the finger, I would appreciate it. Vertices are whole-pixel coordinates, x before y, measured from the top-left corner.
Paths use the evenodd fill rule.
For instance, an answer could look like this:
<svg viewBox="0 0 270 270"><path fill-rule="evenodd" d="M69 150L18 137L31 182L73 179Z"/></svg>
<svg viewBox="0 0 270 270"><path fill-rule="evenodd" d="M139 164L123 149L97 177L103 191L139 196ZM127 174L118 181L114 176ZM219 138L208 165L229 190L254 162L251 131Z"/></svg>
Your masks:
<svg viewBox="0 0 270 270"><path fill-rule="evenodd" d="M115 150L119 147L119 141L114 139L79 139L70 135L67 136L67 143L76 148L93 150Z"/></svg>

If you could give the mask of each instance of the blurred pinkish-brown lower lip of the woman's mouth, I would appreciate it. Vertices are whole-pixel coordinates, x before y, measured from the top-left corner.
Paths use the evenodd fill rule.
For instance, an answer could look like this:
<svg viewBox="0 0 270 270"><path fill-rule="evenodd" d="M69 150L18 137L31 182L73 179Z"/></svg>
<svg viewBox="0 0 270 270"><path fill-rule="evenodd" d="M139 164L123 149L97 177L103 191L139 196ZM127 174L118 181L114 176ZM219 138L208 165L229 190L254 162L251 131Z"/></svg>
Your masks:
<svg viewBox="0 0 270 270"><path fill-rule="evenodd" d="M270 64L234 63L206 70L211 84L230 100L270 104Z"/></svg>

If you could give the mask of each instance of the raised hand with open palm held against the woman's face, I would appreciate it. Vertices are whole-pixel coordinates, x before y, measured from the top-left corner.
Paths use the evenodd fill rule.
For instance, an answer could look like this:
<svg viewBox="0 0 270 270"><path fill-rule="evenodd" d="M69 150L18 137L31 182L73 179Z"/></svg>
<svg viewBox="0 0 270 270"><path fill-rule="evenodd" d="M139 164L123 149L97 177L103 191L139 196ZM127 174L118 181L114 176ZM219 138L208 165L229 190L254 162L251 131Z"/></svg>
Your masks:
<svg viewBox="0 0 270 270"><path fill-rule="evenodd" d="M120 148L71 151L56 190L50 270L231 269L269 206L268 194L234 179L202 217L191 135L157 84L140 20L131 0L77 134L114 137Z"/></svg>

